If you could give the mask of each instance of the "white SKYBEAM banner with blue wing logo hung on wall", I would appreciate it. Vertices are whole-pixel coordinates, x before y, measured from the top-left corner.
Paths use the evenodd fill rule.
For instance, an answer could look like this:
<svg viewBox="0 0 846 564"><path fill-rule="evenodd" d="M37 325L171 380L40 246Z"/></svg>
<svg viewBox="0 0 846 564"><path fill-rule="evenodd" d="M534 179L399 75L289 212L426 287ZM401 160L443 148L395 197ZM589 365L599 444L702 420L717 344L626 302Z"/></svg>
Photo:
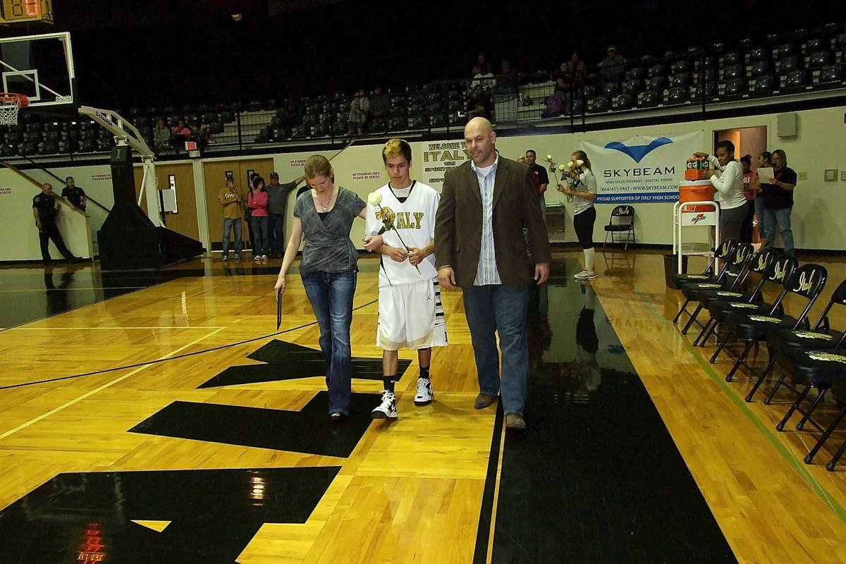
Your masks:
<svg viewBox="0 0 846 564"><path fill-rule="evenodd" d="M596 203L644 204L678 201L687 159L705 146L705 132L667 137L637 135L602 145L580 141L596 176Z"/></svg>

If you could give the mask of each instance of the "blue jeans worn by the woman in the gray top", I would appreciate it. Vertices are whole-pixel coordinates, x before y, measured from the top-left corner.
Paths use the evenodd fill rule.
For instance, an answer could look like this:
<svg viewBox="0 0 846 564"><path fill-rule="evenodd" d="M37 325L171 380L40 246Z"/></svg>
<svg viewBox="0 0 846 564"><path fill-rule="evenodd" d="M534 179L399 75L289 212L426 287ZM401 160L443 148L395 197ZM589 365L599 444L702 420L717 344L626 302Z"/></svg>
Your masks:
<svg viewBox="0 0 846 564"><path fill-rule="evenodd" d="M353 381L349 326L353 321L355 282L355 271L317 271L303 277L305 293L320 326L320 348L327 365L329 413L339 411L349 415Z"/></svg>

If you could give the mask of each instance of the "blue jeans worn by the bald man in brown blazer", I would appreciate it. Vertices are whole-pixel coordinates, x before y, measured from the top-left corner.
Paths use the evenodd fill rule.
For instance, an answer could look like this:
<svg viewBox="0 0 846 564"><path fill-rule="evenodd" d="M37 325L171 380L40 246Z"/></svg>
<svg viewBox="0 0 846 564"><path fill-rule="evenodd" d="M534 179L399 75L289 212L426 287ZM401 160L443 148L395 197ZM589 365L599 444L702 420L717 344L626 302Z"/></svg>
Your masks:
<svg viewBox="0 0 846 564"><path fill-rule="evenodd" d="M526 343L529 288L509 290L502 284L492 284L462 290L480 391L492 396L502 392L503 411L522 415L529 379L529 347ZM497 333L503 350L502 378Z"/></svg>

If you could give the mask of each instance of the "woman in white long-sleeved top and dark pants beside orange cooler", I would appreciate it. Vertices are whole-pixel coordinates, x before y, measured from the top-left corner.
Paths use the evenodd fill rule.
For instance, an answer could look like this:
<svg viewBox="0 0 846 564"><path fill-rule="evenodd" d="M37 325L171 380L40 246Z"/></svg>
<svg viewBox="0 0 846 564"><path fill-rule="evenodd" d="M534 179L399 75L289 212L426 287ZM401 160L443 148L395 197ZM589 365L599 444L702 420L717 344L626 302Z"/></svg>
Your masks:
<svg viewBox="0 0 846 564"><path fill-rule="evenodd" d="M720 205L720 236L740 240L740 226L746 216L746 197L743 194L743 169L734 158L734 144L729 140L717 143L717 156L695 153L708 159L711 165L706 176L717 189L714 200Z"/></svg>

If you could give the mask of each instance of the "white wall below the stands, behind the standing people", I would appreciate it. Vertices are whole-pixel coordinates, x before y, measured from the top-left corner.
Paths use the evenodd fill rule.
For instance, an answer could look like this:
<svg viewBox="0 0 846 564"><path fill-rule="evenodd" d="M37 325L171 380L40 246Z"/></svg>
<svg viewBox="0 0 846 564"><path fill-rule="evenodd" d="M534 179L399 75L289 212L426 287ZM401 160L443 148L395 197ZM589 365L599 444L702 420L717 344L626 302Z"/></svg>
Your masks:
<svg viewBox="0 0 846 564"><path fill-rule="evenodd" d="M503 156L516 159L525 153L526 149L537 151L539 160L552 154L558 162L566 162L569 155L578 147L580 140L602 142L603 140L624 140L635 134L645 136L673 136L695 130L705 131L705 144L702 151L712 150L711 139L713 132L722 129L740 129L756 126L767 128L767 150L783 149L788 155L788 166L792 167L799 175L807 175L806 180L799 179L795 192L795 205L793 211L793 229L795 244L798 249L832 249L846 250L846 198L841 196L839 190L846 187L846 182L841 181L839 171L846 170L846 156L842 156L844 142L846 142L846 124L844 124L843 107L826 108L821 110L808 110L799 112L799 133L791 138L779 138L777 136L776 114L764 114L744 118L726 118L711 120L708 122L671 123L667 125L649 125L640 128L609 129L588 134L539 134L524 137L508 137L508 132L497 140L497 149ZM460 140L460 134L456 134L455 140ZM415 151L415 162L412 173L418 178L423 176L422 167L422 144L413 142L412 148ZM337 182L345 188L354 190L360 194L362 199L376 189L382 183L387 182L382 168L381 145L352 145L339 155L338 151L323 151L327 157L334 156L332 166L335 169ZM302 162L311 153L301 151L291 153L279 153L273 156L274 167L279 172L283 182L287 182L302 174ZM199 164L199 163L198 163ZM683 165L684 163L679 163ZM838 179L835 182L823 182L825 169L835 168L838 170ZM199 171L195 168L197 181L198 200L203 194ZM41 182L51 181L41 171L26 171L30 176ZM107 165L98 167L68 167L54 169L53 172L60 177L66 175L74 176L77 185L85 189L96 200L103 205L111 207L113 204L112 182L110 170ZM270 171L262 171L270 172ZM378 174L378 178L376 175ZM41 178L41 177L45 178ZM801 178L801 176L800 176ZM52 182L61 192L61 185ZM29 254L29 258L36 260L40 258L38 252L38 238L35 227L31 225L31 198L36 194L36 189L24 179L19 178L14 172L0 170L0 188L12 189L12 195L0 195L0 235L4 241L21 241L22 249L15 249L10 253L9 247L4 246L0 251L0 260L20 260L10 258ZM439 186L436 186L439 189ZM563 194L560 194L551 186L547 191L547 202L563 201ZM293 209L294 194L291 194L288 202L288 214ZM202 203L202 202L200 202ZM204 210L199 205L198 210ZM597 221L594 238L602 241L604 230L602 227L607 223L613 204L597 204ZM636 228L637 238L644 244L672 244L672 210L673 205L667 203L639 204L636 205ZM96 232L105 219L105 212L102 212L95 205L89 205L88 211L91 215L91 230ZM205 214L198 218L198 225L204 225ZM567 229L564 240L574 241L572 230L572 213L567 211ZM20 217L26 217L24 222L19 221ZM288 221L288 229L291 222ZM363 233L363 222L356 220L351 236L355 244L360 246L361 233ZM31 232L31 233L30 233ZM200 233L206 233L205 228ZM21 236L23 234L23 236ZM31 241L30 241L31 239ZM34 243L33 243L34 241ZM208 246L208 242L204 241ZM21 247L21 245L15 245Z"/></svg>

